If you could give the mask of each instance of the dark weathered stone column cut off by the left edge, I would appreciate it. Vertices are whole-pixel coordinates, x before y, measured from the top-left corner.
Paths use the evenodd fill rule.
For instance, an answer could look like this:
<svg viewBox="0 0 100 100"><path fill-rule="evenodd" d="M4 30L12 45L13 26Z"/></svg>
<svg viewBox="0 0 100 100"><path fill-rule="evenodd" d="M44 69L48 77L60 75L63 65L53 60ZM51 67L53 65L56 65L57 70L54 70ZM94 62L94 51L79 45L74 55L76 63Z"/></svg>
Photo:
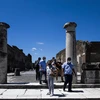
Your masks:
<svg viewBox="0 0 100 100"><path fill-rule="evenodd" d="M7 83L7 28L10 26L0 22L0 84Z"/></svg>

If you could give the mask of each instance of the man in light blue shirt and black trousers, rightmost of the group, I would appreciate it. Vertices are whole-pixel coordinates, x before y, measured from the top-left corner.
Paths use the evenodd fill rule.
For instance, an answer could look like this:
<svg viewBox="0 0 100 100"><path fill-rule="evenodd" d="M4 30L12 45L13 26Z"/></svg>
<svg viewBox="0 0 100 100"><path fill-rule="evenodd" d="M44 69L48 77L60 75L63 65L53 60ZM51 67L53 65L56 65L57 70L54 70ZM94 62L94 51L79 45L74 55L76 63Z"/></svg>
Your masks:
<svg viewBox="0 0 100 100"><path fill-rule="evenodd" d="M69 83L68 92L72 92L72 90L71 90L71 88L72 88L72 74L74 73L75 76L76 76L76 72L74 70L73 64L71 63L71 58L70 57L68 57L67 62L65 62L62 65L62 71L63 71L64 77L65 77L63 91L65 91L66 85Z"/></svg>

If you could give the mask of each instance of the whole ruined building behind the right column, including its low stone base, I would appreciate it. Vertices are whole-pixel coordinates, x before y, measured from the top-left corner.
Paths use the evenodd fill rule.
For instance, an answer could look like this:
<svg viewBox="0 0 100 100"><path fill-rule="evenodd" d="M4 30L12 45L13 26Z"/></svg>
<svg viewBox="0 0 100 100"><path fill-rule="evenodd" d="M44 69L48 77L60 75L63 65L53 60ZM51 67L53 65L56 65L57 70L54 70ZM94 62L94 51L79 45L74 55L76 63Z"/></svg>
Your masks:
<svg viewBox="0 0 100 100"><path fill-rule="evenodd" d="M81 73L82 83L100 83L100 41L76 42L77 72ZM56 59L65 62L65 49L56 55Z"/></svg>

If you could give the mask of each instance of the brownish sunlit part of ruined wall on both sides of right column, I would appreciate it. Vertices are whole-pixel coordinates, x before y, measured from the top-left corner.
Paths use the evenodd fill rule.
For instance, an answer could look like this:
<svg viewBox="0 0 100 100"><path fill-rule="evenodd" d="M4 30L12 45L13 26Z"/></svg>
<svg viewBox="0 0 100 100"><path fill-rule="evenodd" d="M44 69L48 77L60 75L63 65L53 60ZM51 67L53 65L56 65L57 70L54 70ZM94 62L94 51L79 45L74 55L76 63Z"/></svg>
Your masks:
<svg viewBox="0 0 100 100"><path fill-rule="evenodd" d="M86 41L77 40L76 42L77 71L78 72L80 72L81 70L80 66L82 65L82 63L85 62L85 56L83 55L85 53L85 45L86 45ZM57 60L60 59L62 63L66 61L65 49L61 50L60 52L56 54L56 59Z"/></svg>

